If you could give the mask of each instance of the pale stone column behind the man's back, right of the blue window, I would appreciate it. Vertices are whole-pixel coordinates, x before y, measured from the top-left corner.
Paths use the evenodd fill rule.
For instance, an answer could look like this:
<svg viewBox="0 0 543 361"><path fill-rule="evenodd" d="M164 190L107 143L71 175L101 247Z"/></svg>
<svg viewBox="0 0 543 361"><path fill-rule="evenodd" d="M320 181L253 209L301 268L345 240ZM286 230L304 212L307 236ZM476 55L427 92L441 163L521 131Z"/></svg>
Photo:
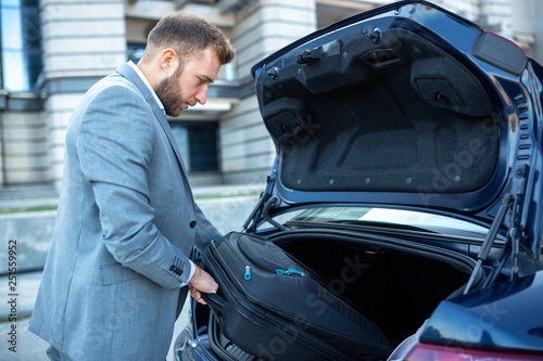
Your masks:
<svg viewBox="0 0 543 361"><path fill-rule="evenodd" d="M125 1L42 0L40 17L49 179L60 190L72 111L92 83L126 61Z"/></svg>

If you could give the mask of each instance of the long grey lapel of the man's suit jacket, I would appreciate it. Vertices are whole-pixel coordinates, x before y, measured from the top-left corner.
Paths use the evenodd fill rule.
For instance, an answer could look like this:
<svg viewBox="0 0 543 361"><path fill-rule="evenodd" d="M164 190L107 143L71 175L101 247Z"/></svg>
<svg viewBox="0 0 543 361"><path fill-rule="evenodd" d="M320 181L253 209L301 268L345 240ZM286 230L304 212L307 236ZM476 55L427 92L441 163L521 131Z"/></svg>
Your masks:
<svg viewBox="0 0 543 361"><path fill-rule="evenodd" d="M159 124L161 125L162 129L166 133L166 137L169 141L169 144L172 145L172 149L174 150L174 153L177 157L177 160L179 162L179 166L182 169L182 175L186 178L187 176L187 169L185 169L185 164L182 162L181 157L181 152L179 151L179 147L177 146L177 141L175 140L174 133L172 132L172 128L169 127L166 117L162 113L162 109L160 108L159 104L156 104L156 101L153 98L153 94L149 91L147 86L141 81L140 77L134 69L128 65L128 64L123 64L121 65L116 72L121 74L123 77L128 79L131 83L138 88L140 93L146 98L148 104L151 106L151 109L154 113L154 116L156 120L159 120Z"/></svg>

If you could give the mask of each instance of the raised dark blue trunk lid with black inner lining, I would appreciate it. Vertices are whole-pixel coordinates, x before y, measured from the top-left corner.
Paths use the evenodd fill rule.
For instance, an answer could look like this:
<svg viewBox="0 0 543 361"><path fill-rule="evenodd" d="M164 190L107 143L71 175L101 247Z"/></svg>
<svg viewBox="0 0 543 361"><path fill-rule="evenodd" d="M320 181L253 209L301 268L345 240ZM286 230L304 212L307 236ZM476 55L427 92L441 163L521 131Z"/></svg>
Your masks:
<svg viewBox="0 0 543 361"><path fill-rule="evenodd" d="M510 193L504 225L540 254L541 68L513 42L402 1L304 37L252 74L277 149L270 214L364 205L490 225Z"/></svg>

